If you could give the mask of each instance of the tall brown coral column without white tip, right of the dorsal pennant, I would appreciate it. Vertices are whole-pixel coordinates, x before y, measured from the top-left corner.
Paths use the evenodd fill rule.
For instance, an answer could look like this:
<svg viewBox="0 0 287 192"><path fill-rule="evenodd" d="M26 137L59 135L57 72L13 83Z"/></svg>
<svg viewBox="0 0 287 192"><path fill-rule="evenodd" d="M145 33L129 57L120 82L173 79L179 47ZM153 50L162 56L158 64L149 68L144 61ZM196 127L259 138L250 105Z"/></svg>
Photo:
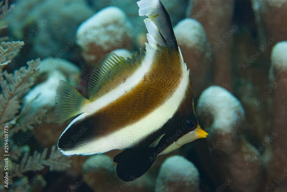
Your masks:
<svg viewBox="0 0 287 192"><path fill-rule="evenodd" d="M205 54L214 56L214 83L232 84L230 50L232 34L238 26L231 26L234 1L190 0L187 17L198 20L204 27L211 44ZM231 90L231 86L228 87Z"/></svg>

